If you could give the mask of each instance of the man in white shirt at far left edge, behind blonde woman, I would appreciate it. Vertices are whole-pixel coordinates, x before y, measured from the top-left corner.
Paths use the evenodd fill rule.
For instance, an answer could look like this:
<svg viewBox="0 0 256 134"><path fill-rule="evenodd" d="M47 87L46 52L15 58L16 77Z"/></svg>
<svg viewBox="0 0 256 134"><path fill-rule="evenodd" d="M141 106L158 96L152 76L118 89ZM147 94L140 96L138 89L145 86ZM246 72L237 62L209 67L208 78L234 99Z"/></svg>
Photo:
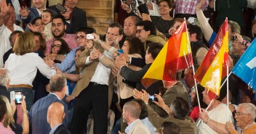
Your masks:
<svg viewBox="0 0 256 134"><path fill-rule="evenodd" d="M23 28L15 25L15 9L10 4L7 5L6 0L0 2L0 9L0 67L3 67L4 62L2 57L4 53L12 49L9 42L9 35L14 30L23 31Z"/></svg>

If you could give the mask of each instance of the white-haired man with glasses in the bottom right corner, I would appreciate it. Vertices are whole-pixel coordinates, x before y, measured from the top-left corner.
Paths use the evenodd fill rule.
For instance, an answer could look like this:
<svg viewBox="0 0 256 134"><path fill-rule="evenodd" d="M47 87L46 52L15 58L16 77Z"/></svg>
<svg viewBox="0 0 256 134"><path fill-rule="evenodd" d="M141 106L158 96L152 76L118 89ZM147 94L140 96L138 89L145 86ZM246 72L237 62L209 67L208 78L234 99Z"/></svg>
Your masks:
<svg viewBox="0 0 256 134"><path fill-rule="evenodd" d="M236 110L235 119L237 127L241 127L242 134L256 133L255 117L256 106L254 104L239 104L239 107ZM229 133L238 134L231 122L227 122L225 127Z"/></svg>

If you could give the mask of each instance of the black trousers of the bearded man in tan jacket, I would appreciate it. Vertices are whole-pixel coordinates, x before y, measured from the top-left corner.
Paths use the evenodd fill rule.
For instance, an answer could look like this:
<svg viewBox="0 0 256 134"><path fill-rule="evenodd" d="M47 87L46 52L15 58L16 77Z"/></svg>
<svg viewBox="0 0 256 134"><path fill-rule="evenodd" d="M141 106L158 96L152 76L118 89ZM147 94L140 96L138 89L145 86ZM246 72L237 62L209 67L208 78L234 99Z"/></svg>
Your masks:
<svg viewBox="0 0 256 134"><path fill-rule="evenodd" d="M108 130L108 85L89 83L79 96L73 109L71 133L87 133L88 115L92 109L93 133L105 134Z"/></svg>

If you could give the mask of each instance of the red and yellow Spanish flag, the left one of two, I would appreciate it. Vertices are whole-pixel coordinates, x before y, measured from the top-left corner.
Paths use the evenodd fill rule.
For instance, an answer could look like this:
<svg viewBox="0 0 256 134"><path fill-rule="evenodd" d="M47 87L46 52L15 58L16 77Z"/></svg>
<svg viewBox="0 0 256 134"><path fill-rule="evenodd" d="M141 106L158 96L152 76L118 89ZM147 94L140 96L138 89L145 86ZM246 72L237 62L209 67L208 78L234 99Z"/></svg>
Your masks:
<svg viewBox="0 0 256 134"><path fill-rule="evenodd" d="M148 88L157 80L173 81L176 79L176 72L191 67L192 64L191 44L187 25L183 21L180 28L169 38L159 55L156 56L141 83Z"/></svg>

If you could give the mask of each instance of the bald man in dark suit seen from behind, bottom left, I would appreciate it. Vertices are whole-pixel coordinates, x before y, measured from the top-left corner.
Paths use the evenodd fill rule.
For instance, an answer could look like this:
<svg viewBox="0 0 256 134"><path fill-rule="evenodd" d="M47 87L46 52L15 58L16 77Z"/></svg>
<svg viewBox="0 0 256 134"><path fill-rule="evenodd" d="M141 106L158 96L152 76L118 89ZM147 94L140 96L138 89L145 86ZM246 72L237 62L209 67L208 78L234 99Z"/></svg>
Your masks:
<svg viewBox="0 0 256 134"><path fill-rule="evenodd" d="M54 102L49 105L47 112L47 122L51 125L52 130L49 134L71 134L68 128L63 125L65 117L64 106L60 102Z"/></svg>

